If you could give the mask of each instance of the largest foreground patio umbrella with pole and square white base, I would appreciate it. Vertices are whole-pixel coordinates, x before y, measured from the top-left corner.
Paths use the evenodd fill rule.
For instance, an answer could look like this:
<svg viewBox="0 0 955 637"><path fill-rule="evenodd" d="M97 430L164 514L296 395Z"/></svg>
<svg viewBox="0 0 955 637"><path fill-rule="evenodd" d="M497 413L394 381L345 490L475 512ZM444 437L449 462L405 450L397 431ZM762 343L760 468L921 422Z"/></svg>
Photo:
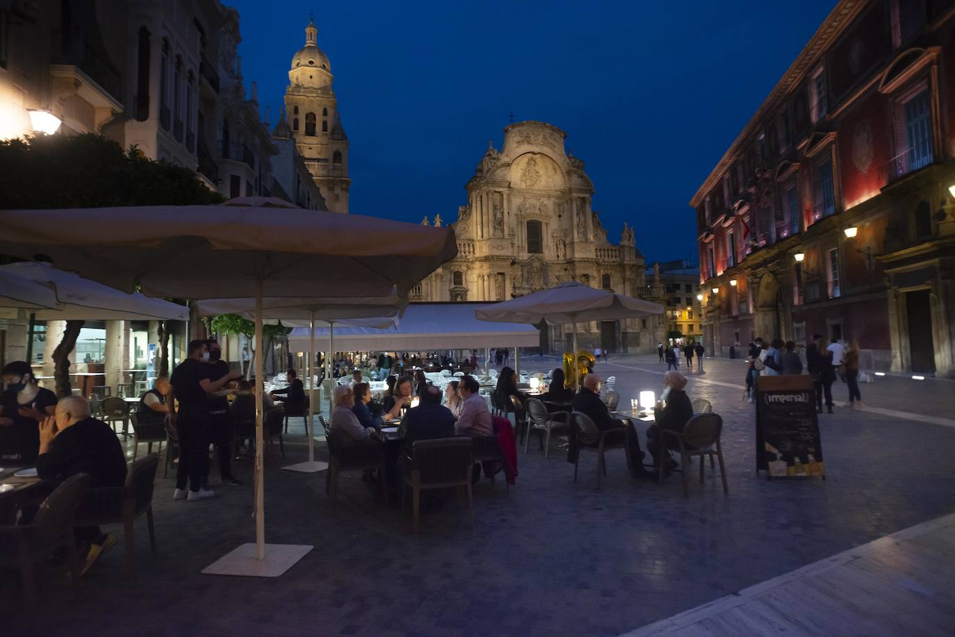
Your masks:
<svg viewBox="0 0 955 637"><path fill-rule="evenodd" d="M333 212L222 205L0 211L0 253L44 255L106 285L175 298L398 294L457 254L454 231ZM206 573L275 577L311 550L265 551L262 357L256 357L255 544Z"/></svg>

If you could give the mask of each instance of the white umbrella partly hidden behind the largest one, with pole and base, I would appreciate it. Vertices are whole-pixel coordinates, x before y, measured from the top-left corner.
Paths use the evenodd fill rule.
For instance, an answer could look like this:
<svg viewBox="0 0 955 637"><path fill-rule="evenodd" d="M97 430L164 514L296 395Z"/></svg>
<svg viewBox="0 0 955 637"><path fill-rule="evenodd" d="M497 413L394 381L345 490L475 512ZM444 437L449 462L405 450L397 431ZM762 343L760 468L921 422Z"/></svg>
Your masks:
<svg viewBox="0 0 955 637"><path fill-rule="evenodd" d="M334 324L344 323L362 327L388 328L396 321L396 313L408 305L408 299L401 299L397 292L387 297L365 297L361 299L295 299L265 298L262 300L263 319L279 320L283 325L308 327L311 338L308 346L308 380L314 372L312 361L315 356L315 320L321 318L334 331ZM244 318L255 319L255 299L216 299L202 301L196 305L200 316L217 314L239 314ZM307 321L303 320L307 318ZM329 337L329 356L326 357L326 377L330 378L329 363L334 351L334 337ZM314 389L314 388L313 388ZM329 393L329 414L331 413L331 395ZM315 460L315 401L309 395L308 400L308 461L290 464L283 469L316 473L329 468L328 462Z"/></svg>

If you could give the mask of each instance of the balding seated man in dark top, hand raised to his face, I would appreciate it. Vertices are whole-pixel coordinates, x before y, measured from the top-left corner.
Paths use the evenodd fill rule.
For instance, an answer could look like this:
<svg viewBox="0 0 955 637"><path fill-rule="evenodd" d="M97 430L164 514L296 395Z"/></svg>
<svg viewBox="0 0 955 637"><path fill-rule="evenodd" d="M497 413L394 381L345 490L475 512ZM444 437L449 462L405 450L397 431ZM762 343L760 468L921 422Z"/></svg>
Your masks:
<svg viewBox="0 0 955 637"><path fill-rule="evenodd" d="M36 475L45 480L63 480L89 474L89 488L121 487L126 481L126 456L113 428L90 417L90 403L80 396L61 398L54 415L39 426L39 456ZM74 538L87 546L82 572L89 570L103 551L116 543L98 526L74 527Z"/></svg>

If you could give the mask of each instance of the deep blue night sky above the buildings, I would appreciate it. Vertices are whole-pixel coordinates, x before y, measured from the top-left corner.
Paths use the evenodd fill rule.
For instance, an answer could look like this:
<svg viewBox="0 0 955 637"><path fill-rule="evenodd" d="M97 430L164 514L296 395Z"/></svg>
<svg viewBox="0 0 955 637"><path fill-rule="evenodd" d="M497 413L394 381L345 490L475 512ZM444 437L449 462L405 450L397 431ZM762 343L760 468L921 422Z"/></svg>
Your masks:
<svg viewBox="0 0 955 637"><path fill-rule="evenodd" d="M464 184L513 114L567 133L612 243L632 223L647 263L695 263L690 198L835 4L231 6L246 88L258 83L273 125L314 11L350 139L352 213L455 221Z"/></svg>

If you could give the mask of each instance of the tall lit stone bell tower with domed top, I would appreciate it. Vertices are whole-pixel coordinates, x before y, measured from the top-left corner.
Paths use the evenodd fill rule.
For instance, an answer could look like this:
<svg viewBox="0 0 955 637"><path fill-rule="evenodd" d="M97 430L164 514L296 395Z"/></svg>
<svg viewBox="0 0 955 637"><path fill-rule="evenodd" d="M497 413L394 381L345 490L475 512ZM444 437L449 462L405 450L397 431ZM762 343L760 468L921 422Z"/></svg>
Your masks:
<svg viewBox="0 0 955 637"><path fill-rule="evenodd" d="M349 211L349 138L331 88L329 56L318 48L312 20L305 46L292 56L286 88L286 120L299 155L333 212Z"/></svg>

